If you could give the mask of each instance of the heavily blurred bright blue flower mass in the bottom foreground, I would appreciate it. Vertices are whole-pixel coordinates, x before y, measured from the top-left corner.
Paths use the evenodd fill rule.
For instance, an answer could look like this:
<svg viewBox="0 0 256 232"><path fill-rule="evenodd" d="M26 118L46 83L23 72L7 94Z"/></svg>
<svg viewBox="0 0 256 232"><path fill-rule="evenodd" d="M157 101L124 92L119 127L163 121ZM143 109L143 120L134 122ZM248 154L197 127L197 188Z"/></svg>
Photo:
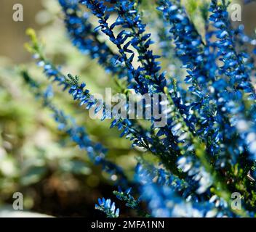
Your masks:
<svg viewBox="0 0 256 232"><path fill-rule="evenodd" d="M144 175L143 167L137 166L137 181L141 184L141 198L148 202L151 214L156 218L202 218L222 216L209 202L186 202L170 186L159 186ZM219 214L219 215L218 215Z"/></svg>

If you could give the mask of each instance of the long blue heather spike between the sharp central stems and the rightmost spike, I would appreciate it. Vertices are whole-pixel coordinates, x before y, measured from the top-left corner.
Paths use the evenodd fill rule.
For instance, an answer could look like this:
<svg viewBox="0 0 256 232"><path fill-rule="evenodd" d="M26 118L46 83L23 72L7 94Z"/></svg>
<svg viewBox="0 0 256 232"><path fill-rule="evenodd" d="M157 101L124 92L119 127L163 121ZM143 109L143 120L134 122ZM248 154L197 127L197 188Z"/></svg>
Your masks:
<svg viewBox="0 0 256 232"><path fill-rule="evenodd" d="M188 72L185 78L188 93L184 94L184 91L177 88L177 93L173 93L172 98L176 107L182 109L180 113L186 115L185 122L191 132L200 136L205 143L211 144L209 151L215 154L218 131L212 130L215 125L214 105L209 99L210 89L207 86L215 78L215 59L209 56L209 48L204 47L201 36L180 1L159 1L158 9L164 14L165 25L168 22L171 26L169 35L166 36L174 42L177 57L183 63L183 69Z"/></svg>

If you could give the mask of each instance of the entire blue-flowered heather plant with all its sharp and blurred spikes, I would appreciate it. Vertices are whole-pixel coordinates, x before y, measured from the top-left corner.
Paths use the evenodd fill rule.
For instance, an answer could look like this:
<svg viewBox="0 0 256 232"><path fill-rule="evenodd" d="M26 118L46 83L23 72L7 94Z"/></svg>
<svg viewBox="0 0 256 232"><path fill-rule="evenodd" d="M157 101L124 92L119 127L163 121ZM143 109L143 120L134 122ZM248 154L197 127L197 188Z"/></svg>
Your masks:
<svg viewBox="0 0 256 232"><path fill-rule="evenodd" d="M228 4L219 0L204 4L200 9L205 31L199 33L180 0L157 1L162 30L158 31L159 47L166 50L158 56L152 48L153 35L143 22L140 1L59 3L68 35L83 54L98 59L111 76L123 78L124 88L167 96L159 104L159 111L166 106L167 117L167 124L161 128L154 126L157 120L153 117L148 128L137 120L121 118L90 94L77 76L64 75L47 60L36 35L28 31L32 41L28 49L50 80L68 89L81 107L93 109L95 115L102 112L101 120L111 117L111 128L122 130L121 136L130 139L132 146L158 158L156 163L138 159L134 180L120 182L121 187L114 191L117 198L143 216L254 217L256 93L252 77L256 40L244 33L243 26L233 28ZM97 26L92 17L97 18ZM163 72L159 60L172 66L177 61L171 74L177 76ZM108 162L105 149L92 142L84 128L70 126L71 119L50 108L60 129L96 164L125 179L121 168ZM232 207L233 191L244 196L240 210ZM141 202L146 203L146 210L141 209ZM110 199L99 199L96 209L108 217L119 216ZM145 213L147 210L150 212Z"/></svg>

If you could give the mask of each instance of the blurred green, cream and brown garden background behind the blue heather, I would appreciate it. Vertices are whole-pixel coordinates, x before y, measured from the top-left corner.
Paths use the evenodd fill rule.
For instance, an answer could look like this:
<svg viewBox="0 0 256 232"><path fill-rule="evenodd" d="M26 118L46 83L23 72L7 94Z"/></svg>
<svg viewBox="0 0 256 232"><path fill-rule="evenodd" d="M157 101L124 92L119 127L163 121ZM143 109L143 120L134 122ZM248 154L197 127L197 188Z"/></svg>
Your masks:
<svg viewBox="0 0 256 232"><path fill-rule="evenodd" d="M23 4L23 22L12 20L12 7L17 3ZM152 7L151 1L145 1L145 7ZM242 23L248 34L256 27L255 12L256 3L243 6ZM95 203L98 197L114 198L113 183L57 130L50 113L17 74L18 68L29 67L33 77L47 85L24 49L26 28L36 30L47 56L62 65L64 73L80 75L92 92L104 93L105 87L113 86L111 77L96 61L71 45L57 0L0 0L0 212L12 208L12 194L19 191L24 195L25 210L31 212L101 216L94 210ZM131 149L129 141L119 138L116 130L108 130L108 123L89 120L67 93L56 89L55 94L55 103L76 116L80 125L86 125L92 138L108 147L110 159L132 176L135 157L143 152Z"/></svg>

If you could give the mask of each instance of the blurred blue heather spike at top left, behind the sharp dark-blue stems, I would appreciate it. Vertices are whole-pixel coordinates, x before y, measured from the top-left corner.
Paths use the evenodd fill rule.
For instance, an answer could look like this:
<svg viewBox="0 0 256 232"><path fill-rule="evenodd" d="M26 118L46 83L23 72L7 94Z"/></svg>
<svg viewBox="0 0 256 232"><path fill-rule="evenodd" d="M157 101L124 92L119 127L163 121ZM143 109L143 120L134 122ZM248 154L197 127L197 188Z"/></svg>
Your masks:
<svg viewBox="0 0 256 232"><path fill-rule="evenodd" d="M98 59L107 72L118 75L119 78L127 77L124 68L116 63L117 55L105 42L100 41L100 34L93 30L89 22L89 14L81 12L79 0L59 0L65 16L65 25L73 45L83 54L89 54L92 59Z"/></svg>

